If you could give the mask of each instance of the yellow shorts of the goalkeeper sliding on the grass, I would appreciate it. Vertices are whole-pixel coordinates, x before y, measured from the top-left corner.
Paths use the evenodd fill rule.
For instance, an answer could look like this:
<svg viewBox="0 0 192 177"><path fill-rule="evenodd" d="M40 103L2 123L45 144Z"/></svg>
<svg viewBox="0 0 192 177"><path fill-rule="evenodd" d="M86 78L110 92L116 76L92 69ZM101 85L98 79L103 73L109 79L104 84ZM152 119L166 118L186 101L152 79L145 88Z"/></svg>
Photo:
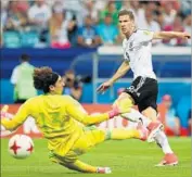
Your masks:
<svg viewBox="0 0 192 177"><path fill-rule="evenodd" d="M72 149L65 154L65 156L56 155L50 152L50 160L60 163L73 163L79 155L89 151L90 148L105 140L105 131L100 129L85 130L84 135L75 142ZM55 152L56 153L56 152Z"/></svg>

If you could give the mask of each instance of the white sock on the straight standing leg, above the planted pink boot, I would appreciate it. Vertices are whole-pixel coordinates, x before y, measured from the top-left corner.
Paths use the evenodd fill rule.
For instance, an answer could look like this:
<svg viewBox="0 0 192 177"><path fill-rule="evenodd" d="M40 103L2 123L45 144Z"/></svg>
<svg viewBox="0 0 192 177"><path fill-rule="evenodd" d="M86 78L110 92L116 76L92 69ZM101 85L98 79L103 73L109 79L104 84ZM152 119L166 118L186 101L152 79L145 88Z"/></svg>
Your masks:
<svg viewBox="0 0 192 177"><path fill-rule="evenodd" d="M170 149L169 143L168 143L167 136L165 135L165 132L163 130L159 130L154 139L155 139L156 143L162 148L162 150L165 154L174 153L172 150Z"/></svg>

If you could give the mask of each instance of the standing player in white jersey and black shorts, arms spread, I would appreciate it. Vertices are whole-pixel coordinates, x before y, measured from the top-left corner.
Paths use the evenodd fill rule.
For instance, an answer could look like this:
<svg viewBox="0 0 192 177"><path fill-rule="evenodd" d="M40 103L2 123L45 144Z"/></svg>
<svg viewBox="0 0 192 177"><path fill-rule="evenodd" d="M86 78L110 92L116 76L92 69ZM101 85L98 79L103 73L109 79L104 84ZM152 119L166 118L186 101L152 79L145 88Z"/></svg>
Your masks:
<svg viewBox="0 0 192 177"><path fill-rule="evenodd" d="M159 166L176 165L178 164L178 157L170 149L167 137L162 130L162 123L157 121L156 99L158 87L152 66L151 47L153 39L188 39L191 38L191 36L188 33L179 31L154 33L138 29L136 27L132 11L129 10L120 10L118 13L118 21L121 33L125 35L125 39L123 41L125 61L113 77L98 88L98 91L104 92L118 78L123 77L129 68L131 68L133 72L133 81L131 86L126 88L118 97L115 104L118 104L121 99L130 99L132 101L132 105L138 105L139 112L144 115L142 116L144 118L139 118L137 115L135 116L136 111L133 110L132 113L124 115L124 117L135 122L139 122L139 119L144 122L145 126L150 130L149 138L154 139L165 153L163 161L158 164ZM151 141L151 139L149 139L149 141Z"/></svg>

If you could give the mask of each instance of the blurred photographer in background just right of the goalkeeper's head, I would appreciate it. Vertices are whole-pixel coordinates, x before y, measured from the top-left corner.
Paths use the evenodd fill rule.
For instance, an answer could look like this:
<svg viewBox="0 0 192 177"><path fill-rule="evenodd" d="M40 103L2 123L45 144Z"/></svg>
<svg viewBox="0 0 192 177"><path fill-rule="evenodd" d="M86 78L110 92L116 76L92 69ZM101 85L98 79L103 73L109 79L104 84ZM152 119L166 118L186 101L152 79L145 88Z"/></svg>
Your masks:
<svg viewBox="0 0 192 177"><path fill-rule="evenodd" d="M68 69L64 75L65 88L64 94L69 94L76 100L80 100L82 94L81 83L76 78L74 71Z"/></svg>

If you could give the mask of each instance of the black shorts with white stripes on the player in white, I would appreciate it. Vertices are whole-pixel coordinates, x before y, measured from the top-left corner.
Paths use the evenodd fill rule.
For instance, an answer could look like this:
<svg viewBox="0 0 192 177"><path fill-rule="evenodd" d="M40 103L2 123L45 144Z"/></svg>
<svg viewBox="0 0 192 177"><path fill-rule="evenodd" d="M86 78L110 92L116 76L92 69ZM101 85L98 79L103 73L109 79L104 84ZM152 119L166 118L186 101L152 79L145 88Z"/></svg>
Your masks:
<svg viewBox="0 0 192 177"><path fill-rule="evenodd" d="M158 94L157 80L149 77L137 77L129 88L125 89L135 100L140 112L149 106L157 109L156 99Z"/></svg>

